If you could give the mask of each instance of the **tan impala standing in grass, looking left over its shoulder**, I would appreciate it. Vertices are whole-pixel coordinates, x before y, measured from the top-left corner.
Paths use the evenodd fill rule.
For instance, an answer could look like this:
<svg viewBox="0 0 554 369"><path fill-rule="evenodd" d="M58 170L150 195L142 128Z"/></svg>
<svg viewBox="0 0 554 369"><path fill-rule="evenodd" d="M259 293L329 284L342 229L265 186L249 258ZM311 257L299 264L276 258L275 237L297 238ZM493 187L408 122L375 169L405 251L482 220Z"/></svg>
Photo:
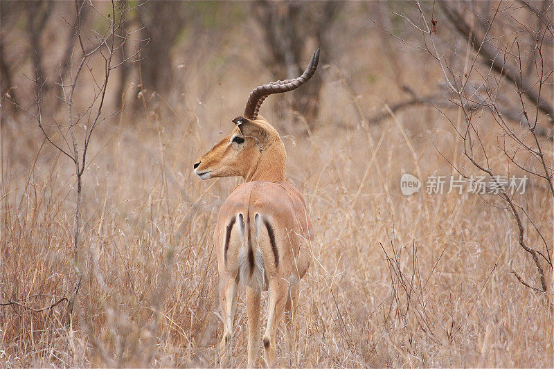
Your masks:
<svg viewBox="0 0 554 369"><path fill-rule="evenodd" d="M244 114L233 119L233 132L197 159L201 179L244 178L224 202L213 235L220 277L220 309L224 319L220 344L222 363L231 356L233 316L238 283L246 287L248 366L255 365L260 339L260 295L269 289L265 360L274 366L276 329L285 314L285 335L294 350L294 311L298 282L311 262L310 221L300 192L285 179L287 154L276 129L258 116L273 93L292 91L309 80L319 62L319 48L304 73L292 80L270 82L254 89Z"/></svg>

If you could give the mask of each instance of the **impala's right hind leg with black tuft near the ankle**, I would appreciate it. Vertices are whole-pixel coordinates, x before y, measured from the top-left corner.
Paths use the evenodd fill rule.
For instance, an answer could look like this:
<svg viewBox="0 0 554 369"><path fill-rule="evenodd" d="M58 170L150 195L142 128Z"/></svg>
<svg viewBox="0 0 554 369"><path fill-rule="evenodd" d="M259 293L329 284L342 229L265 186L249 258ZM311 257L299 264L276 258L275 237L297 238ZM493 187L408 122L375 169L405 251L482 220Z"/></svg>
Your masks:
<svg viewBox="0 0 554 369"><path fill-rule="evenodd" d="M289 293L289 282L284 278L269 280L269 304L267 305L267 327L264 334L265 360L269 368L275 367L277 324L283 316Z"/></svg>

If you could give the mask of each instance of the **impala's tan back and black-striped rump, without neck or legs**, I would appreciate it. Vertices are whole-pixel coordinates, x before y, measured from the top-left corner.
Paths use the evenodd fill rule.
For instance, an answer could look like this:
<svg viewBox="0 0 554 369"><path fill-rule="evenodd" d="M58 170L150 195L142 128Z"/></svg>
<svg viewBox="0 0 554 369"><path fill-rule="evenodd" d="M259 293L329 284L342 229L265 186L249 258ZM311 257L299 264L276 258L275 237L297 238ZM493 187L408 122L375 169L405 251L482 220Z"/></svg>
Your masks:
<svg viewBox="0 0 554 369"><path fill-rule="evenodd" d="M217 218L214 235L220 273L237 275L256 291L268 278L291 285L310 265L310 222L300 192L290 183L252 181L233 191Z"/></svg>

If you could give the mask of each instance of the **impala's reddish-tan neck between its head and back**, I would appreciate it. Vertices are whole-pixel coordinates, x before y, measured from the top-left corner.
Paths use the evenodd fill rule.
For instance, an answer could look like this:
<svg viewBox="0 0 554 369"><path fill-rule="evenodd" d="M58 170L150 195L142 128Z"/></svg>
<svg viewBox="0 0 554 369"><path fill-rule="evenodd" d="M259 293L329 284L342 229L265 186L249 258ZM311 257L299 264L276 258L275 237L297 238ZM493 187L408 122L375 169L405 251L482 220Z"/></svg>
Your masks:
<svg viewBox="0 0 554 369"><path fill-rule="evenodd" d="M283 141L277 138L262 150L244 177L244 181L285 181L285 163L287 153Z"/></svg>

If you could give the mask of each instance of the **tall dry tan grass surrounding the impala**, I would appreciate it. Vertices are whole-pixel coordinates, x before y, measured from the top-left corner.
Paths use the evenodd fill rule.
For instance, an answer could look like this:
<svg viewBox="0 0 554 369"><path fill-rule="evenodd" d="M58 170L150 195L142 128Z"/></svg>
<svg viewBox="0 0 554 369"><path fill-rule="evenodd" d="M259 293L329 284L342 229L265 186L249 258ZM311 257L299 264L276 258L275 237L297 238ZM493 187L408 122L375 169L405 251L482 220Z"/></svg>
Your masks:
<svg viewBox="0 0 554 369"><path fill-rule="evenodd" d="M375 55L377 46L368 47ZM220 204L240 181L200 181L192 164L230 131L257 83L242 80L241 60L230 63L219 86L204 87L210 69L190 80L174 113L141 112L139 121L126 114L96 132L83 184L85 282L70 327L62 322L64 301L33 309L71 294L72 167L28 117L3 118L0 302L18 300L0 307L1 366L217 365L211 233ZM188 69L201 71L202 60L197 64ZM307 201L316 237L301 282L298 350L278 350L280 365L554 366L553 316L544 297L512 275L536 282L514 220L488 204L501 202L468 193L400 193L403 172L449 175L440 154L461 160L447 120L415 108L396 122L356 128L348 94L336 76L327 78L319 128L283 136L287 173ZM436 81L440 73L413 73L411 82L426 78ZM384 71L357 86L367 111L396 98L391 80ZM271 103L265 109L274 121ZM283 132L285 124L276 127ZM496 133L483 137L490 159L503 165ZM552 145L546 149L551 155ZM552 244L548 190L531 181L517 199ZM528 237L540 244L535 233ZM241 289L235 366L247 361L243 298Z"/></svg>

